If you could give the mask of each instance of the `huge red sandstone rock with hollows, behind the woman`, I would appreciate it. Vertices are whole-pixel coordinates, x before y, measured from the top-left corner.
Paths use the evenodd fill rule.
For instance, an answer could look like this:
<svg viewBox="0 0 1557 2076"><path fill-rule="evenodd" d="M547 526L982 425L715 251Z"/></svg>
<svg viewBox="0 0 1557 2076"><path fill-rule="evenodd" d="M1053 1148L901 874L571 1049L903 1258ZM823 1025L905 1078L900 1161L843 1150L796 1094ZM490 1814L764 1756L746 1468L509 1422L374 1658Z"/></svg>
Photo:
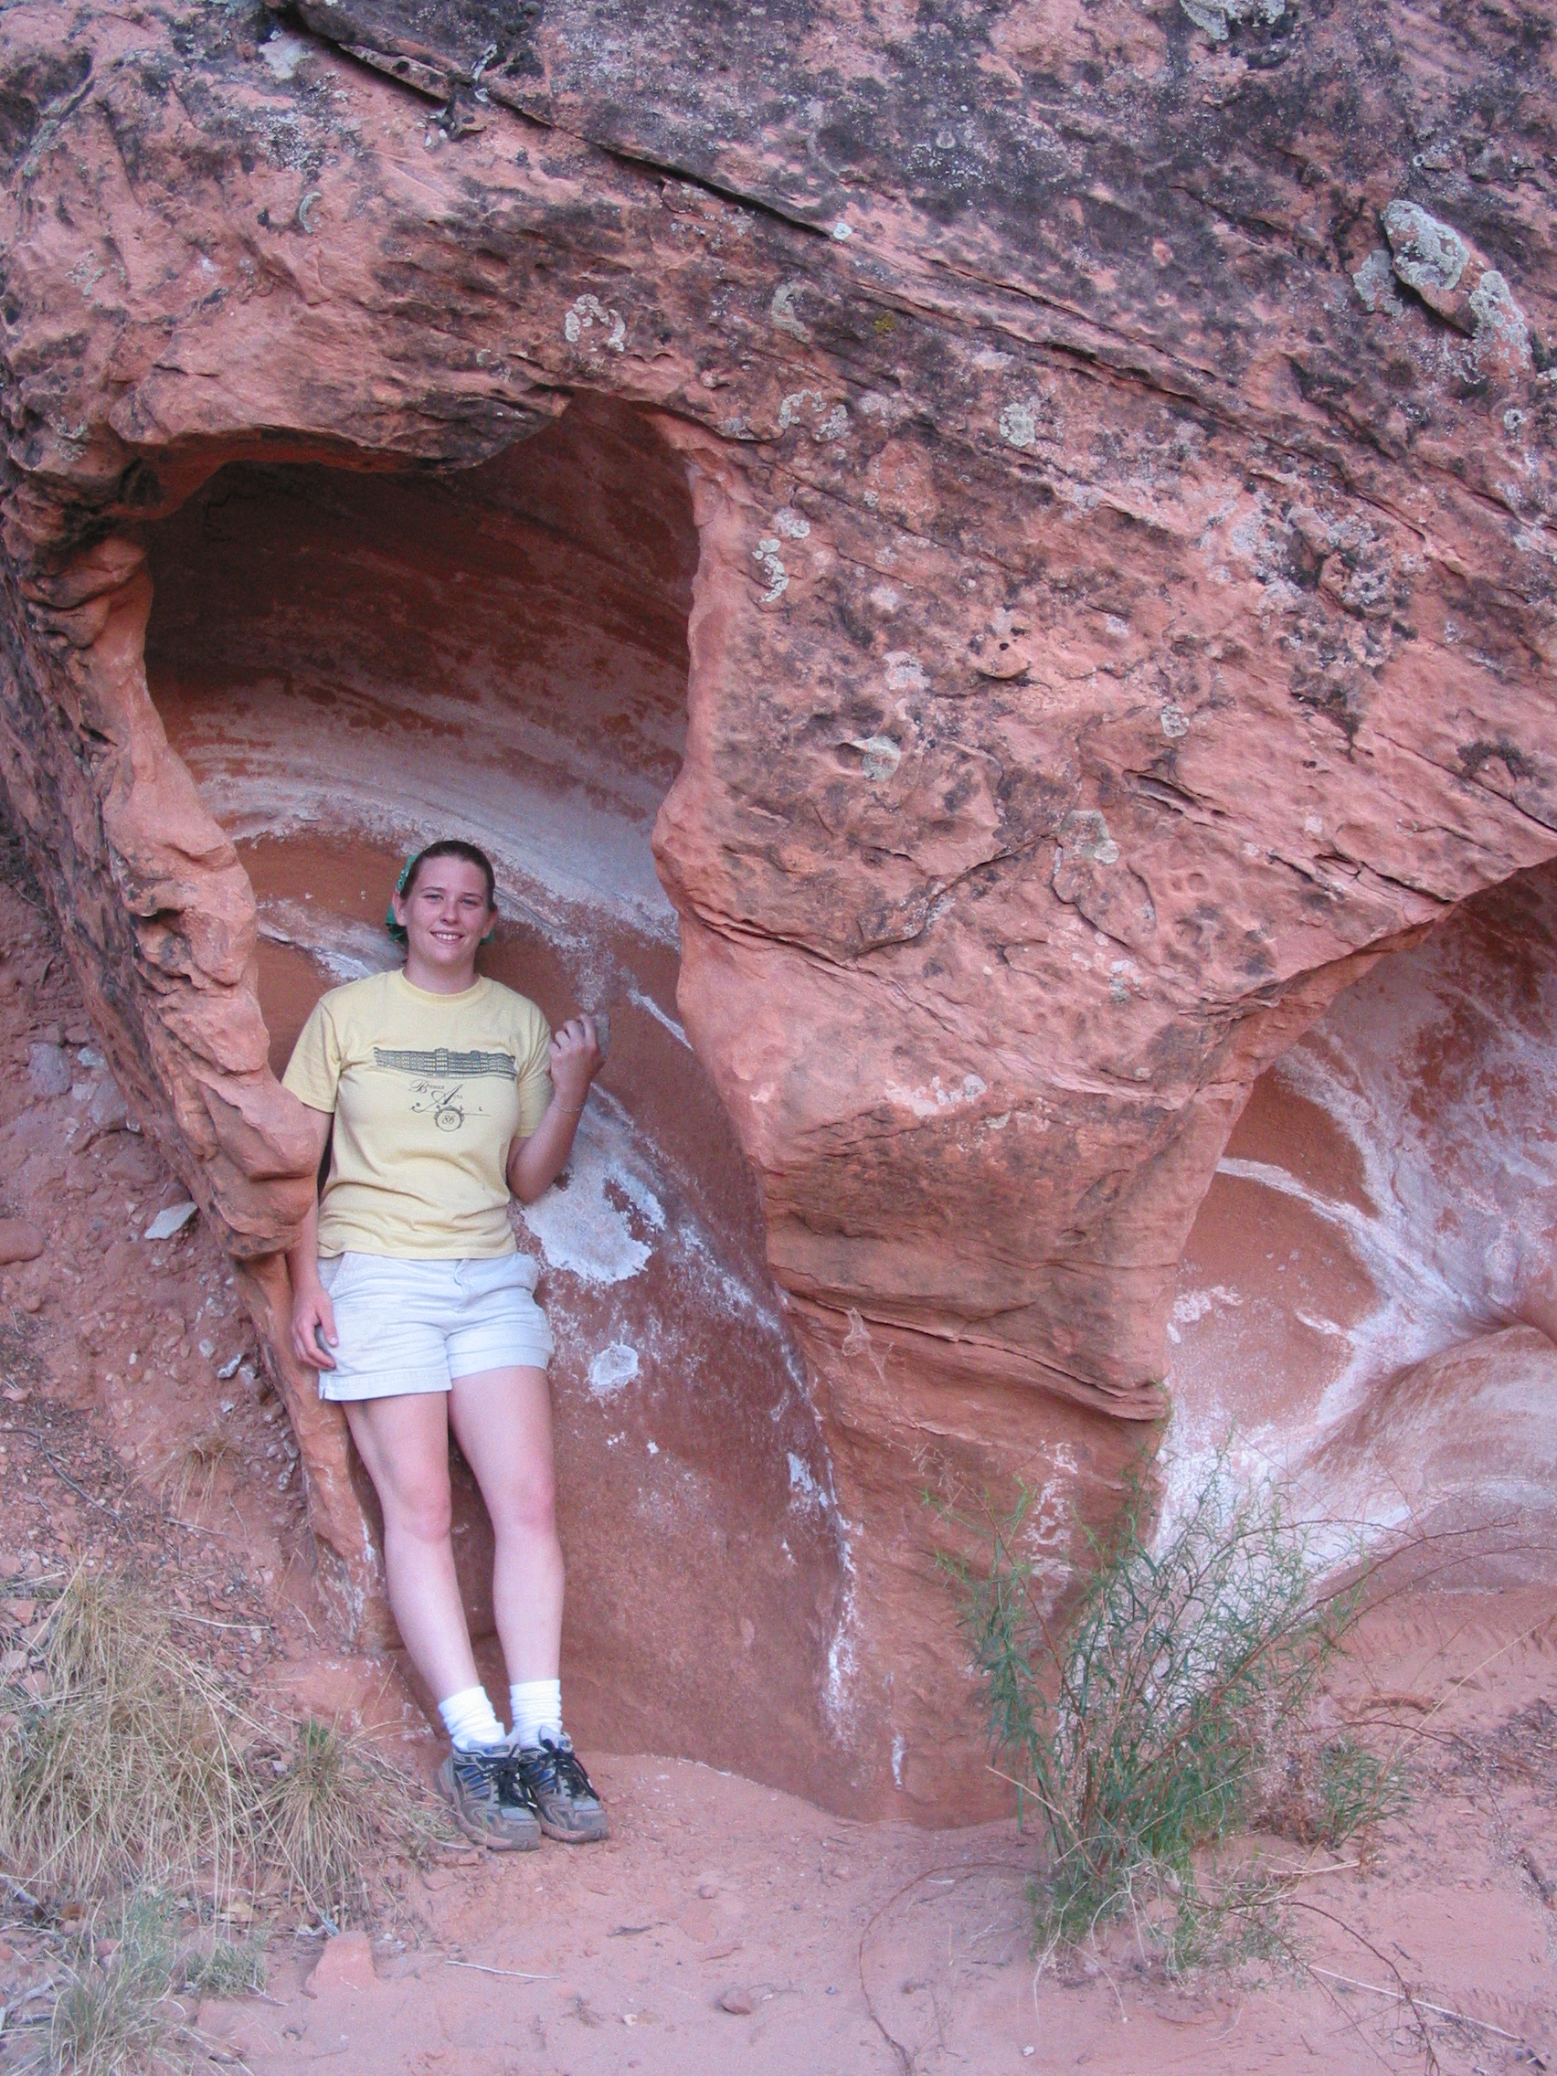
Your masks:
<svg viewBox="0 0 1557 2076"><path fill-rule="evenodd" d="M926 1488L1545 1491L1553 10L424 12L8 10L6 787L343 1632L274 1069L459 828L585 1736L976 1810Z"/></svg>

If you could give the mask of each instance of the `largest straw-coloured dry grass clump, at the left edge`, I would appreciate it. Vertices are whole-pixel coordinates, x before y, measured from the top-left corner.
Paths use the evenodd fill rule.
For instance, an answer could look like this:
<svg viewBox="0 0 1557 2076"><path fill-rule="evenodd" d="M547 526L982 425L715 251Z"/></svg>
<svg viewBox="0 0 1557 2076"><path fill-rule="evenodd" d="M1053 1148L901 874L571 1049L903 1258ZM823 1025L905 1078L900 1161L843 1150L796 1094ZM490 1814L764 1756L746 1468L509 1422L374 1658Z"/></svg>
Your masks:
<svg viewBox="0 0 1557 2076"><path fill-rule="evenodd" d="M73 1897L228 1895L253 1866L241 1723L154 1601L77 1572L29 1673L4 1696L0 1858Z"/></svg>

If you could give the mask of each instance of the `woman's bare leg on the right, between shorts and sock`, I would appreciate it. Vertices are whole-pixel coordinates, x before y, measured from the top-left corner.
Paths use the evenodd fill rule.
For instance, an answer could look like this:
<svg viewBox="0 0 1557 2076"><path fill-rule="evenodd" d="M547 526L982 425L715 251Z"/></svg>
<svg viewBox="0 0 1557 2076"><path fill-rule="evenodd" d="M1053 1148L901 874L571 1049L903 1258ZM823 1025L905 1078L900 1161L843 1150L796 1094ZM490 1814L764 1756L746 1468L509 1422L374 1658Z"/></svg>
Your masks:
<svg viewBox="0 0 1557 2076"><path fill-rule="evenodd" d="M563 1545L556 1540L552 1395L546 1370L457 1376L448 1420L492 1515L492 1609L509 1679L556 1679ZM473 1675L471 1675L473 1677Z"/></svg>

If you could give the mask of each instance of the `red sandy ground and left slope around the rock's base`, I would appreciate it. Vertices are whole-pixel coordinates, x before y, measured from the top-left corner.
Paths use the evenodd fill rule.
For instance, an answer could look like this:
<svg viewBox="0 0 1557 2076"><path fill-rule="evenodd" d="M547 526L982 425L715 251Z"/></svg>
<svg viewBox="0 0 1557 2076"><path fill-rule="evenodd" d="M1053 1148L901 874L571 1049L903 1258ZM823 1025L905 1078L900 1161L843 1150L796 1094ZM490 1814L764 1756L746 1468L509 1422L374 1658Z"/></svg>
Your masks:
<svg viewBox="0 0 1557 2076"><path fill-rule="evenodd" d="M37 1092L33 1044L60 1048L71 1090ZM199 1223L166 1246L135 1237L183 1190L141 1138L93 1123L112 1100L89 1055L52 928L0 884L0 1217L46 1237L0 1273L0 1619L27 1628L39 1572L137 1569L247 1692L430 1767L397 1663L322 1632L289 1437L226 1264ZM210 1491L197 1474L181 1493L191 1443L218 1455ZM1329 1706L1399 1744L1412 1806L1341 1864L1266 1841L1306 1870L1291 1968L1175 1985L1129 1929L1038 1968L1032 1848L1013 1823L864 1827L685 1760L592 1752L608 1846L453 1856L409 1877L372 1943L278 1935L264 1999L201 2007L210 2061L253 2076L1547 2068L1555 1648L1549 1590L1439 1582L1374 1609ZM0 2070L37 2055L39 2028L12 2028L46 2010L25 1999L48 1966L12 1910Z"/></svg>

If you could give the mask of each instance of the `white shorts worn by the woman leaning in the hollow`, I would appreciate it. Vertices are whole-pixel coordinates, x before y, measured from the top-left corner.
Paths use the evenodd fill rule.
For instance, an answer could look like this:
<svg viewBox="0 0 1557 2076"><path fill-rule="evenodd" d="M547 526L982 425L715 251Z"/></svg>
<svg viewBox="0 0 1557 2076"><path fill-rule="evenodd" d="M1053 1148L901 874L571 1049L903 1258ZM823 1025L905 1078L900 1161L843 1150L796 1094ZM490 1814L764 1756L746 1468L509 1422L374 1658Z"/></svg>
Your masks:
<svg viewBox="0 0 1557 2076"><path fill-rule="evenodd" d="M540 1275L527 1254L492 1260L407 1262L390 1254L336 1254L320 1262L334 1308L332 1370L322 1399L392 1399L448 1391L480 1370L544 1370L552 1329L536 1304Z"/></svg>

